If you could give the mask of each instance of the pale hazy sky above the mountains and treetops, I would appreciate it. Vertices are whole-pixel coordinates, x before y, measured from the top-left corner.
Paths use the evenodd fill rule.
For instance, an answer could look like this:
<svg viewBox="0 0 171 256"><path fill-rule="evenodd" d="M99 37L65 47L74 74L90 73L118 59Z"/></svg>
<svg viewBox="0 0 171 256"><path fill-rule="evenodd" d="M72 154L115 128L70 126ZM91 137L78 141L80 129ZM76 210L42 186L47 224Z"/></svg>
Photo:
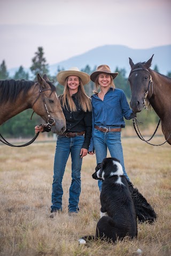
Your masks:
<svg viewBox="0 0 171 256"><path fill-rule="evenodd" d="M38 46L48 64L106 44L171 44L171 0L1 0L0 64L30 67Z"/></svg>

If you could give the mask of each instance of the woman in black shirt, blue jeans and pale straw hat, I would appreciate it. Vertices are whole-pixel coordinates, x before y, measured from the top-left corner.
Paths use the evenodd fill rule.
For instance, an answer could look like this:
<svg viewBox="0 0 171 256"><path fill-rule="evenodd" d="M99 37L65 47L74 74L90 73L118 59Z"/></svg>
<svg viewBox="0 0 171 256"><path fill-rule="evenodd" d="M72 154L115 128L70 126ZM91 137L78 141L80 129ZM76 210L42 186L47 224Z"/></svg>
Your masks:
<svg viewBox="0 0 171 256"><path fill-rule="evenodd" d="M62 135L58 135L57 138L53 168L51 218L62 211L62 180L70 153L72 182L69 188L68 212L69 215L72 215L79 211L82 158L88 153L92 134L91 100L83 88L90 81L90 76L73 67L68 71L60 71L57 80L65 86L64 94L59 96L59 100L66 119L66 131ZM48 130L36 126L35 132L38 131Z"/></svg>

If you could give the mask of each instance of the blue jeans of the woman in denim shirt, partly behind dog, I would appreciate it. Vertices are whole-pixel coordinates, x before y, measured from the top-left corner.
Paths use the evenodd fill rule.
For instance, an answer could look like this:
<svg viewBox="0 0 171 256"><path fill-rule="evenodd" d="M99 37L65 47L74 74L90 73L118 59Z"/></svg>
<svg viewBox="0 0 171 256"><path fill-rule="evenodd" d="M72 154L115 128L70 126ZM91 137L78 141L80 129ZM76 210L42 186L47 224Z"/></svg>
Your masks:
<svg viewBox="0 0 171 256"><path fill-rule="evenodd" d="M115 157L120 160L120 164L123 168L123 174L126 176L129 181L129 177L126 173L124 160L123 160L123 150L121 144L121 132L120 131L109 131L108 133L103 133L94 129L93 141L96 152L96 161L97 164L102 162L104 158L107 157L107 148L111 154L111 157ZM101 191L102 181L98 180L98 187Z"/></svg>

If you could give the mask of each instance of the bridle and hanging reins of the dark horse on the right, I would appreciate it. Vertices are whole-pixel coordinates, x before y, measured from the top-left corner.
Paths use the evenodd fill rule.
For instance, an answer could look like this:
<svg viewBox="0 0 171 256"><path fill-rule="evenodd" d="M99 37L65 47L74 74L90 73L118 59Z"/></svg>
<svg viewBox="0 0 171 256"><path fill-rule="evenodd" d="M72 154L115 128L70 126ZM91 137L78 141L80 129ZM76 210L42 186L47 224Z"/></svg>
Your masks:
<svg viewBox="0 0 171 256"><path fill-rule="evenodd" d="M149 100L149 99L152 97L152 95L153 95L153 81L152 81L152 76L151 76L150 71L149 71L148 69L144 69L144 68L141 68L141 67L140 67L140 68L135 68L135 69L133 69L133 71L131 71L131 73L134 72L134 71L138 71L138 70L145 70L145 71L149 72L149 85L148 85L147 90L146 90L146 92L145 92L145 95L144 95L144 103L143 103L143 108L144 108L145 110L148 110L148 108L147 108L146 105L145 105L145 100L146 100L147 95L148 95L148 93L149 93L150 86L151 86L152 94L151 94L151 96L148 98L148 100ZM149 143L149 141L151 141L151 139L152 139L152 138L154 137L154 135L156 134L156 131L157 131L157 129L158 129L158 127L159 127L159 124L160 124L160 120L159 120L159 122L158 122L158 125L157 125L156 130L154 131L153 135L151 136L151 138L149 138L149 139L147 139L147 140L145 140L145 139L143 138L141 132L139 131L137 122L139 122L139 121L136 119L136 117L133 118L133 126L134 126L134 129L135 129L135 131L136 131L136 134L138 135L138 137L139 137L142 141L145 141L147 144L150 144L150 145L153 145L153 146L161 146L161 145L164 145L164 144L168 141L168 139L169 139L169 137L170 137L170 135L171 135L171 133L170 133L170 135L168 136L168 138L166 139L166 141L165 141L164 143L162 143L162 144L156 145L156 144Z"/></svg>

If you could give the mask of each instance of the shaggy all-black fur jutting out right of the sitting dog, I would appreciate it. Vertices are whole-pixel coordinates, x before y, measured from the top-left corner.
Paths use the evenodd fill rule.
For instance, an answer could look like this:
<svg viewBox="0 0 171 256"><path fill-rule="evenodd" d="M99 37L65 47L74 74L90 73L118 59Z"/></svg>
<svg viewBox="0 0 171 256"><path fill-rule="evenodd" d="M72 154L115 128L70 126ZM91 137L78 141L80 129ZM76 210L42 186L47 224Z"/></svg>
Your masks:
<svg viewBox="0 0 171 256"><path fill-rule="evenodd" d="M143 197L137 188L134 188L134 185L130 181L128 181L128 187L134 201L138 221L147 221L149 223L153 223L153 221L156 220L157 215L154 212L152 206L147 203L147 200Z"/></svg>

